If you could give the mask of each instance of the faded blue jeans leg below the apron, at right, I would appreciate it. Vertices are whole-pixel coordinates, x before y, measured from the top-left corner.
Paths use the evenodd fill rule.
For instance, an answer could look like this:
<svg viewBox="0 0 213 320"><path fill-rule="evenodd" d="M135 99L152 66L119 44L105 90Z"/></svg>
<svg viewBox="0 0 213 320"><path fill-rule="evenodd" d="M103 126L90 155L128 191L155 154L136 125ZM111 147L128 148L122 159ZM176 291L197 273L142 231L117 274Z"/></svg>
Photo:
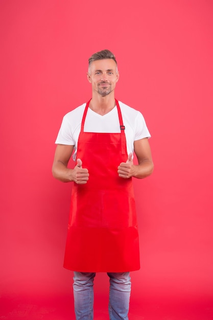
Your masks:
<svg viewBox="0 0 213 320"><path fill-rule="evenodd" d="M129 272L107 272L109 276L109 318L128 320L131 278Z"/></svg>

